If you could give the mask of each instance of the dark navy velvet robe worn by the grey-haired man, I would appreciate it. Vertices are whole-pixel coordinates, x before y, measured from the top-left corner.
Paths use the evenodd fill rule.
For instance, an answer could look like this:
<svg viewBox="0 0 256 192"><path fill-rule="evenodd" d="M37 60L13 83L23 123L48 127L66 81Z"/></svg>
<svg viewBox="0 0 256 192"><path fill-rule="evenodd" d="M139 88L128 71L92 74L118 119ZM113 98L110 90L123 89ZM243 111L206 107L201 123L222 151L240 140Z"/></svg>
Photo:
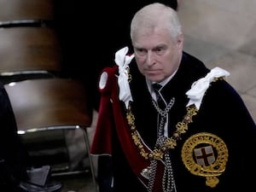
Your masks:
<svg viewBox="0 0 256 192"><path fill-rule="evenodd" d="M169 136L172 136L172 132L176 130L177 122L182 121L186 114L186 105L189 99L185 93L191 88L191 84L205 77L208 72L209 69L201 61L192 55L183 53L183 59L177 73L161 90L166 102L175 97L175 103L168 114L170 119ZM143 138L143 142L154 149L158 114L152 104L146 81L143 75L138 72L134 60L130 63L130 73L130 88L133 98L131 108L135 115L137 131ZM120 102L120 105L125 118L124 103ZM113 111L109 110L109 113L113 113ZM115 116L110 115L109 118L109 122L113 122ZM101 119L98 119L98 121L100 122ZM110 145L106 143L106 145L111 146L111 157L99 159L99 181L105 182L104 184L107 183L102 187L101 192L146 192L146 187L137 179L125 157L124 150L121 147L122 138L118 137L116 133L116 129L119 128L115 127L113 123L111 143ZM189 137L204 132L218 137L228 149L228 159L224 165L224 172L218 175L219 182L214 187L207 186L206 177L189 172L182 157L184 143L189 141ZM102 140L102 145L105 145L104 140ZM253 174L256 172L255 146L256 126L241 100L241 96L224 80L212 82L203 97L199 112L193 117L193 122L189 124L188 131L182 135L181 140L177 141L177 147L169 150L177 192L256 190L253 183L255 178ZM215 160L218 159L218 155L221 154L215 152ZM106 168L107 165L108 168ZM103 176L108 176L108 179ZM113 180L109 176L113 176ZM113 187L110 186L111 182L113 182Z"/></svg>

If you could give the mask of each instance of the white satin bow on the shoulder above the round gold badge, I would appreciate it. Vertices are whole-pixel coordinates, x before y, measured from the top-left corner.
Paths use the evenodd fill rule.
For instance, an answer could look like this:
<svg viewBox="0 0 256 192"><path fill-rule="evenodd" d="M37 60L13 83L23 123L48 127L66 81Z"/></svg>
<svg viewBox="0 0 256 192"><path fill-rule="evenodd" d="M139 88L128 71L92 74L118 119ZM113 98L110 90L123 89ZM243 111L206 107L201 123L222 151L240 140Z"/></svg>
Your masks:
<svg viewBox="0 0 256 192"><path fill-rule="evenodd" d="M201 106L202 98L211 84L214 78L227 77L230 73L225 71L220 67L212 68L211 72L207 73L205 78L198 79L191 85L191 89L186 92L186 95L189 97L189 105L195 104L197 109Z"/></svg>

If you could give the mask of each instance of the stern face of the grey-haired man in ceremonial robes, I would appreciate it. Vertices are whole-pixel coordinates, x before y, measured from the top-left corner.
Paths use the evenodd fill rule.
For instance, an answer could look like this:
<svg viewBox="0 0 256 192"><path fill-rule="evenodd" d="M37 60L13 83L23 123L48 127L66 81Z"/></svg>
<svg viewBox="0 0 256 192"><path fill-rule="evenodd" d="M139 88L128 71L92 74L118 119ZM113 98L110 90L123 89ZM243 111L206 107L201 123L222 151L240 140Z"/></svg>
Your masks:
<svg viewBox="0 0 256 192"><path fill-rule="evenodd" d="M163 29L137 33L133 47L139 71L149 80L160 82L177 70L183 52L183 36L172 40L170 32Z"/></svg>

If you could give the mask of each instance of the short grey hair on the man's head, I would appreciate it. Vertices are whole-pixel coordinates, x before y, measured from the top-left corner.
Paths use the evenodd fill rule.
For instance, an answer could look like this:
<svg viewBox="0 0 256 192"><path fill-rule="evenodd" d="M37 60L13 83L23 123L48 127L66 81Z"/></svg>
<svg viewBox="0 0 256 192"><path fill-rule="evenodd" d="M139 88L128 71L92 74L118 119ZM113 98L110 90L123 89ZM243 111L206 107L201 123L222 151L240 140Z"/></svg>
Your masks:
<svg viewBox="0 0 256 192"><path fill-rule="evenodd" d="M162 3L151 3L137 11L131 20L131 41L136 34L147 34L155 29L166 29L172 40L177 40L183 32L176 10Z"/></svg>

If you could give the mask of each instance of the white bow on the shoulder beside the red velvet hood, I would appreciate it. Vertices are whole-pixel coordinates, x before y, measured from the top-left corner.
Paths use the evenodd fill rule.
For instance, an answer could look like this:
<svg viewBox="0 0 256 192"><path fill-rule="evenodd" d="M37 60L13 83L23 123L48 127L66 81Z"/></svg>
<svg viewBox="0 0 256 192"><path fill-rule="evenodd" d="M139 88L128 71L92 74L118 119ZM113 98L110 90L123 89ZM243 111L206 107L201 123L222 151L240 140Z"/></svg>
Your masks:
<svg viewBox="0 0 256 192"><path fill-rule="evenodd" d="M133 101L131 96L130 85L128 82L128 72L127 67L130 64L131 60L134 58L134 55L126 55L128 53L128 47L119 49L115 53L114 61L119 66L119 100L125 102L125 107L128 108L129 102Z"/></svg>

